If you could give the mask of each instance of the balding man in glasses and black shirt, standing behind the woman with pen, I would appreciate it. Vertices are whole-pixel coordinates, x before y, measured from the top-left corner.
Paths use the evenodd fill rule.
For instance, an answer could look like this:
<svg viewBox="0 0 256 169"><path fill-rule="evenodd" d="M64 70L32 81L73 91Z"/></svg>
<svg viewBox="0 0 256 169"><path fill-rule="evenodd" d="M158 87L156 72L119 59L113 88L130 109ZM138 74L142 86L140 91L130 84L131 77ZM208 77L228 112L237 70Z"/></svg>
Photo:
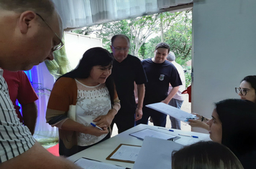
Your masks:
<svg viewBox="0 0 256 169"><path fill-rule="evenodd" d="M121 109L111 123L123 132L134 127L134 122L142 118L142 106L145 95L145 82L147 77L140 59L129 52L129 38L124 34L116 34L111 38L111 51L114 62L112 75L116 84L116 91L121 103ZM137 84L138 105L134 99L134 82Z"/></svg>

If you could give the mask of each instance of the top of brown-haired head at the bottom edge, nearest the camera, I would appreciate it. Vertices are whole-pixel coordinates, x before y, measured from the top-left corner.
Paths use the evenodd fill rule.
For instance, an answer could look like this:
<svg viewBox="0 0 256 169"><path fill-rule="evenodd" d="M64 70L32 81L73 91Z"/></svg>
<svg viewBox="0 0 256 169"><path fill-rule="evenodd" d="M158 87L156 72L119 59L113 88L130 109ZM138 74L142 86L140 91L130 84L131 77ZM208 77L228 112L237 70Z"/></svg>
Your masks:
<svg viewBox="0 0 256 169"><path fill-rule="evenodd" d="M173 151L173 169L242 169L237 157L224 145L198 142Z"/></svg>

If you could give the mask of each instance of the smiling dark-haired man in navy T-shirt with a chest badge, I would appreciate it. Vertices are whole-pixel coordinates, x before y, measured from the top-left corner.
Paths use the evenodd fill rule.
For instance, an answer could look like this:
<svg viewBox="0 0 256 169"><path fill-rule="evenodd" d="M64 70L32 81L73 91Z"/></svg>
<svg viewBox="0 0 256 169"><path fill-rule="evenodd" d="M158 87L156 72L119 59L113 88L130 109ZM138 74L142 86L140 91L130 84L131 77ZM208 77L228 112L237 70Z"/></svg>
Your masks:
<svg viewBox="0 0 256 169"><path fill-rule="evenodd" d="M159 43L155 47L155 57L142 61L148 82L145 84L144 114L142 119L137 121L137 125L147 124L149 117L152 117L154 125L161 127L166 125L165 114L145 107L145 105L155 102L168 104L182 84L175 66L166 61L169 52L168 44ZM173 90L168 95L169 83L173 86Z"/></svg>

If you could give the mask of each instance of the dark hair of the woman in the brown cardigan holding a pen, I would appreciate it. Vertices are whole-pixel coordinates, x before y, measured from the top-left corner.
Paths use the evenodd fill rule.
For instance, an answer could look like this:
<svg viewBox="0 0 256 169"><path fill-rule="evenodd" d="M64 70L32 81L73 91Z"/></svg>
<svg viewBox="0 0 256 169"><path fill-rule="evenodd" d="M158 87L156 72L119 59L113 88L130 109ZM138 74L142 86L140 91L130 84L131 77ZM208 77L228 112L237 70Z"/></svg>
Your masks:
<svg viewBox="0 0 256 169"><path fill-rule="evenodd" d="M94 66L103 66L106 67L109 64L113 64L114 57L101 47L93 47L88 49L80 60L78 66L73 69L71 72L64 74L62 77L71 77L71 78L81 78L86 79L91 74L91 69ZM114 79L109 75L106 79L106 87L109 90L109 95L111 99L111 105L114 105Z"/></svg>

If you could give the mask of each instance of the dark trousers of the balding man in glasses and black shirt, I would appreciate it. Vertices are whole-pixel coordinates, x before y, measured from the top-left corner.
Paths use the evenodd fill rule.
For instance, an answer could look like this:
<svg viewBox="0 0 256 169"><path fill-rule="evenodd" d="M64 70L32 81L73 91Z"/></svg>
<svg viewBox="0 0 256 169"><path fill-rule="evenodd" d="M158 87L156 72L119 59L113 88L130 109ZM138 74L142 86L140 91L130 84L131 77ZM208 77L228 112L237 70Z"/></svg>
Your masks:
<svg viewBox="0 0 256 169"><path fill-rule="evenodd" d="M113 130L114 123L116 123L118 133L124 132L125 130L134 127L134 114L135 110L127 111L125 109L122 109L121 107L121 109L119 110L119 112L117 112L117 114L114 117L114 120L110 125L111 130Z"/></svg>

